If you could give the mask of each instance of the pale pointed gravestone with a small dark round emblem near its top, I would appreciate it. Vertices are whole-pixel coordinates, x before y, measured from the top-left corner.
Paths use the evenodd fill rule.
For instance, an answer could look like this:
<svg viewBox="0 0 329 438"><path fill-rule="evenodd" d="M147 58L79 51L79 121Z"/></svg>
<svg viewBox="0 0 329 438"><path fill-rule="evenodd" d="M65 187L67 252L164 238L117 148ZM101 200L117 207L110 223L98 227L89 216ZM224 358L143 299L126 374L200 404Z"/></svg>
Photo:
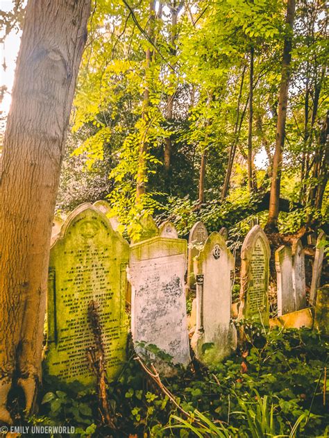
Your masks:
<svg viewBox="0 0 329 438"><path fill-rule="evenodd" d="M191 345L208 365L230 355L237 331L230 317L235 260L219 233L212 233L194 259L196 330Z"/></svg>

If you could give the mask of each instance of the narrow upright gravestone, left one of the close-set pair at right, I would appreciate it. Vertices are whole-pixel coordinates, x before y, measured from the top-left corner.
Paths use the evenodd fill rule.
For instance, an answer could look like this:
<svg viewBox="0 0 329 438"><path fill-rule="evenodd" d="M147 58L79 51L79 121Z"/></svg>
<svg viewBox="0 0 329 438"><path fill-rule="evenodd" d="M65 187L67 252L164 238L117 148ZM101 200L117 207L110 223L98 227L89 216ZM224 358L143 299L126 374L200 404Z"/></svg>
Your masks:
<svg viewBox="0 0 329 438"><path fill-rule="evenodd" d="M292 285L292 249L282 245L276 250L276 279L278 286L278 317L296 310Z"/></svg>

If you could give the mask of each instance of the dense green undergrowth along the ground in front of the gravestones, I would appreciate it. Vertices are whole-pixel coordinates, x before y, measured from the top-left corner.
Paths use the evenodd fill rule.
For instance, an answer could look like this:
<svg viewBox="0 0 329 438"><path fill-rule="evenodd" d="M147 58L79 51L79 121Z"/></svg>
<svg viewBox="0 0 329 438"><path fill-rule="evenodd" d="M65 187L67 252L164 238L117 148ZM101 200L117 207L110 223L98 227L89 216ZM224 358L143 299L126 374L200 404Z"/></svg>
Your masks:
<svg viewBox="0 0 329 438"><path fill-rule="evenodd" d="M116 430L101 423L94 391L60 387L47 376L39 415L30 421L75 426L80 437L327 437L328 339L306 329L266 331L255 323L246 335L244 347L212 370L194 360L162 380L180 408L130 351L108 387Z"/></svg>

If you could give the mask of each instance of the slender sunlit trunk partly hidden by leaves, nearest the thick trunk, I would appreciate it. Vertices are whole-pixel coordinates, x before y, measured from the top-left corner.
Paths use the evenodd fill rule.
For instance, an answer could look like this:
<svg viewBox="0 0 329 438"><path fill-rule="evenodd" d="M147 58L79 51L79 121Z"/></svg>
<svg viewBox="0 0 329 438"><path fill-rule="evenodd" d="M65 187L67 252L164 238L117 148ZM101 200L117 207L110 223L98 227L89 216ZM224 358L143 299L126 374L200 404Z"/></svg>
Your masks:
<svg viewBox="0 0 329 438"><path fill-rule="evenodd" d="M155 21L155 0L151 0L149 3L149 30L148 35L150 38L153 37L153 28ZM146 87L144 90L144 100L143 100L143 110L142 110L142 118L146 123L147 113L150 106L150 90L148 83L148 72L151 67L153 57L153 51L151 49L146 49L145 58L146 58L146 66L145 66L145 75L146 75ZM147 160L146 154L149 151L149 144L146 141L145 137L143 138L140 144L140 151L138 155L138 163L137 163L137 187L136 187L136 203L140 203L141 197L146 193L146 178L147 178Z"/></svg>

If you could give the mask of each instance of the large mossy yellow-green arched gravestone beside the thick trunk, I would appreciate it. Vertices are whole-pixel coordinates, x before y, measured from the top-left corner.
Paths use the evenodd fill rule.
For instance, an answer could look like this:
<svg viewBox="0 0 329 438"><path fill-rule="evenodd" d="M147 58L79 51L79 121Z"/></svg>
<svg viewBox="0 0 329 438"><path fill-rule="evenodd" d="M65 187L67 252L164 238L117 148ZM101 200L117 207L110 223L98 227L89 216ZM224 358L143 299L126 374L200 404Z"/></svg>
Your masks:
<svg viewBox="0 0 329 438"><path fill-rule="evenodd" d="M99 305L106 370L112 380L126 355L126 266L129 246L91 204L71 212L51 246L46 367L62 382L92 385L86 351L94 346L88 305Z"/></svg>

